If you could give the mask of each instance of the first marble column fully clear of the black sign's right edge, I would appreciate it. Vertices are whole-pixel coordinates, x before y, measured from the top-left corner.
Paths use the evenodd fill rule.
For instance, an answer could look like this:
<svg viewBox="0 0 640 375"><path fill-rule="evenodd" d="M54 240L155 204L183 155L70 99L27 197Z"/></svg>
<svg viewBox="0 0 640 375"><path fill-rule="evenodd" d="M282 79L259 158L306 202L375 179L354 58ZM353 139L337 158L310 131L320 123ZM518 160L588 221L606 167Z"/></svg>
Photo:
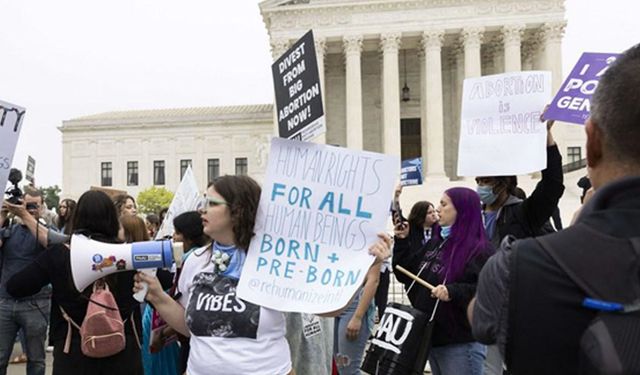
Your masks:
<svg viewBox="0 0 640 375"><path fill-rule="evenodd" d="M362 36L350 35L342 39L346 59L347 147L362 150L362 73L360 53Z"/></svg>

